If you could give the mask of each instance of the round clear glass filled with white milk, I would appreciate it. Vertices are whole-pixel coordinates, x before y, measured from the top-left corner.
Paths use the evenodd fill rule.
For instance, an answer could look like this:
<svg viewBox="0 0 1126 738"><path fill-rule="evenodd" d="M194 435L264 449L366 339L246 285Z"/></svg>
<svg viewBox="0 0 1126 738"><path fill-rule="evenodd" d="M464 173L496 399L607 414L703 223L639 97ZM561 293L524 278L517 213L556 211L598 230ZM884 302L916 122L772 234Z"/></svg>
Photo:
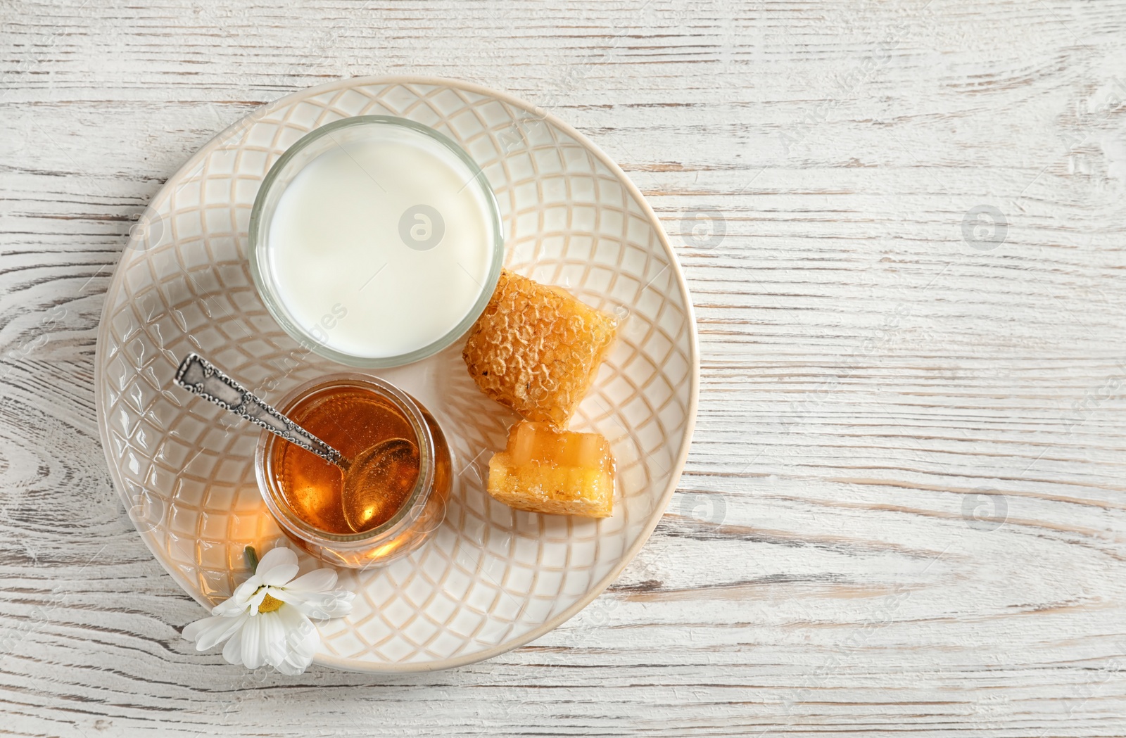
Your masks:
<svg viewBox="0 0 1126 738"><path fill-rule="evenodd" d="M270 168L250 215L250 270L304 348L396 367L463 335L503 260L500 209L456 143L404 118L316 128Z"/></svg>

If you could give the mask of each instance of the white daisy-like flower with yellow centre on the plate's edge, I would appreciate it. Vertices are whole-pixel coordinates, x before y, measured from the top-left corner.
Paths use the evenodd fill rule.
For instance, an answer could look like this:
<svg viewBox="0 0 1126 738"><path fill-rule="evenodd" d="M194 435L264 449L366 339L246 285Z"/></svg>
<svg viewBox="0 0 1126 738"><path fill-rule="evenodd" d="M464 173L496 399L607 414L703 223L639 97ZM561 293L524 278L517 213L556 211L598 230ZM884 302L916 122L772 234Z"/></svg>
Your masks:
<svg viewBox="0 0 1126 738"><path fill-rule="evenodd" d="M251 566L256 566L253 551L247 547ZM269 664L283 674L301 674L321 646L321 634L310 618L347 615L356 594L333 590L333 569L295 576L297 555L285 547L271 549L257 561L253 576L230 600L215 605L211 618L187 626L184 637L200 651L225 640L223 658L231 664L247 668Z"/></svg>

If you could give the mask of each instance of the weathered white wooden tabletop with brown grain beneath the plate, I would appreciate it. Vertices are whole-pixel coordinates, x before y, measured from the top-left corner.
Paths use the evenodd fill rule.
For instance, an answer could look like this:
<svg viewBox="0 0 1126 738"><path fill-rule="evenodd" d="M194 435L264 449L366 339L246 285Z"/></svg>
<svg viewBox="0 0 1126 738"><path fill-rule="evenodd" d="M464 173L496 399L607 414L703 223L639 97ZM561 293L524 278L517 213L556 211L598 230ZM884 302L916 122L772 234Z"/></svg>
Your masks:
<svg viewBox="0 0 1126 738"><path fill-rule="evenodd" d="M695 444L538 641L251 681L109 487L104 294L215 132L402 73L549 108L645 192ZM0 79L0 732L1126 735L1126 2L17 1Z"/></svg>

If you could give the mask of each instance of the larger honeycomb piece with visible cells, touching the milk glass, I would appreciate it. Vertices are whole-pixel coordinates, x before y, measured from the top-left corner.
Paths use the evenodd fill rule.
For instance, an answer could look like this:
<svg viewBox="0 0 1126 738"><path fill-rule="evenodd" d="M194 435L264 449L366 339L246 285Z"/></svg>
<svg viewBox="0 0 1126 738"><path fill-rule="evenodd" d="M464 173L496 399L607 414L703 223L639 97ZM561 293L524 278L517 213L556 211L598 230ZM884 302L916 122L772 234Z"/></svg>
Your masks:
<svg viewBox="0 0 1126 738"><path fill-rule="evenodd" d="M529 421L566 426L614 341L610 316L502 270L462 352L481 390Z"/></svg>

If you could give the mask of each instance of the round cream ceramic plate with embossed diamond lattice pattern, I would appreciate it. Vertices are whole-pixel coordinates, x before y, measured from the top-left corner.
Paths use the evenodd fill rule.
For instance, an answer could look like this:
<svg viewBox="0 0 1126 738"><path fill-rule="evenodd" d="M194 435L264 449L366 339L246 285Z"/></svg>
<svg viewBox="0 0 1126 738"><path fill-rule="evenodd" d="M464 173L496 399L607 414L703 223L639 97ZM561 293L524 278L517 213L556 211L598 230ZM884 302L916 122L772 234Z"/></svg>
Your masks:
<svg viewBox="0 0 1126 738"><path fill-rule="evenodd" d="M402 116L458 142L497 192L508 268L624 317L571 425L613 444L618 489L606 520L518 512L489 497L489 456L515 417L477 390L461 341L372 372L434 412L457 476L426 547L383 569L341 572L356 608L320 624L316 663L447 668L521 646L598 596L656 525L688 454L698 356L683 277L641 192L573 128L507 94L419 78L311 88L227 128L168 180L114 274L98 333L98 425L145 543L200 604L227 597L247 576L243 547L285 542L254 482L259 430L179 392L172 375L194 350L277 400L346 370L274 323L251 282L245 240L270 164L311 129L356 115Z"/></svg>

